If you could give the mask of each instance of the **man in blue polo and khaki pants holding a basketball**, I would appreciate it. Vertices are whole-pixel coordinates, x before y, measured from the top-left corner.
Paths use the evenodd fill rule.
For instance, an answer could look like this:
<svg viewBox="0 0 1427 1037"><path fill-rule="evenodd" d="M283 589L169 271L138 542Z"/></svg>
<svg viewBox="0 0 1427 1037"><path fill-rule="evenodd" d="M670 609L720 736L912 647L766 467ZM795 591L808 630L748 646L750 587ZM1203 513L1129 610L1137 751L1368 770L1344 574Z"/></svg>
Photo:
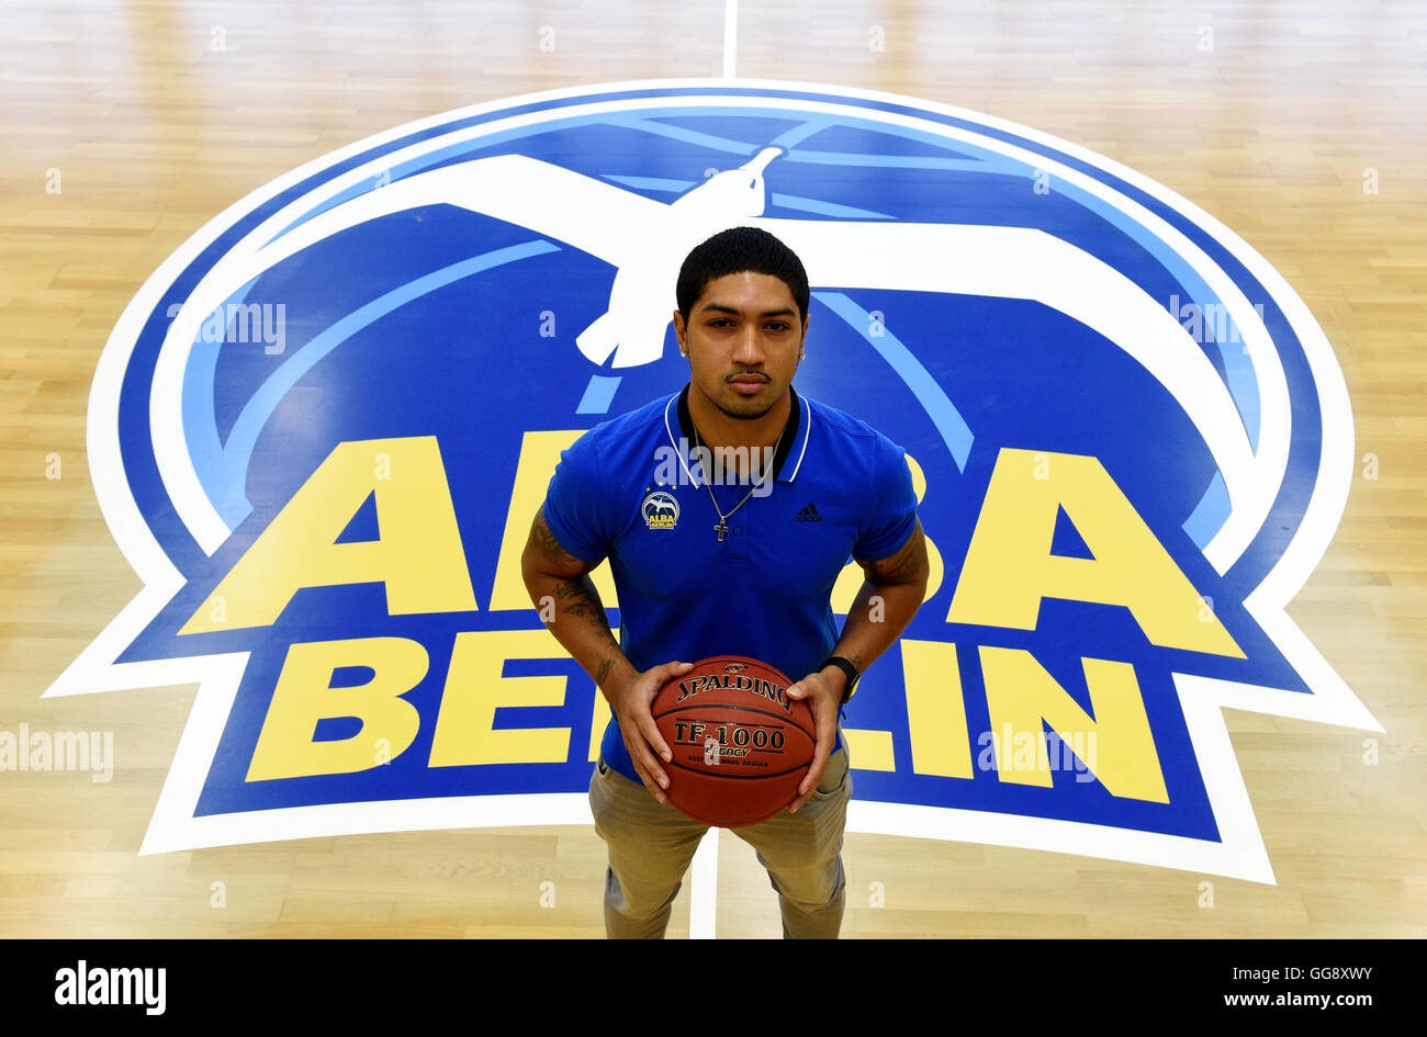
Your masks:
<svg viewBox="0 0 1427 1037"><path fill-rule="evenodd" d="M609 847L605 929L662 937L708 827L665 795L655 693L696 659L743 655L795 679L788 695L808 700L816 749L789 809L733 832L768 869L783 936L831 939L852 797L838 713L926 591L912 478L886 436L793 391L809 290L778 238L715 234L684 261L676 295L689 384L561 455L521 559L531 599L545 616L554 603L551 632L614 713L589 787ZM849 556L866 578L839 635L831 595ZM605 558L618 642L588 576Z"/></svg>

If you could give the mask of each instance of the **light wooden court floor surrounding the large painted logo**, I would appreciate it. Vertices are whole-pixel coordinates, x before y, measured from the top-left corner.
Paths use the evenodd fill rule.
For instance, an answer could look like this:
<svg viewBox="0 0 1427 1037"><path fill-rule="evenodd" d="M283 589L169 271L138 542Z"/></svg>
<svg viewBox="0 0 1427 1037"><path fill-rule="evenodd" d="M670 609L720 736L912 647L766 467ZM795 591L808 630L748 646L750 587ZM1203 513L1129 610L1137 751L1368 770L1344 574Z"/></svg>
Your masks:
<svg viewBox="0 0 1427 1037"><path fill-rule="evenodd" d="M1424 47L1427 11L1404 3L739 4L739 76L993 114L1203 207L1323 325L1357 432L1347 512L1289 611L1386 733L1227 715L1276 886L853 834L845 936L1427 934ZM174 248L408 120L722 70L718 4L4 4L0 729L113 732L118 766L0 772L0 934L604 934L589 827L140 857L194 689L40 695L140 588L96 504L86 405L120 311ZM718 934L778 936L752 852L721 849ZM669 936L688 924L685 890Z"/></svg>

